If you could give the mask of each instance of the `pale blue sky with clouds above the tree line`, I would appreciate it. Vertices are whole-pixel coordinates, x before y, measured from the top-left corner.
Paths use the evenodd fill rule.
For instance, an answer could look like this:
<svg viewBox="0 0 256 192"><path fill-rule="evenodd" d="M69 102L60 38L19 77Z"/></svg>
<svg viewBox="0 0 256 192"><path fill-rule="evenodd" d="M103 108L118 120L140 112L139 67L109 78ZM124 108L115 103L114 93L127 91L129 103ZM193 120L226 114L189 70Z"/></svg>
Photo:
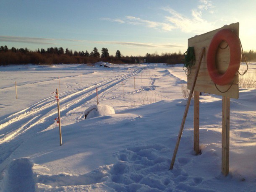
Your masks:
<svg viewBox="0 0 256 192"><path fill-rule="evenodd" d="M1 0L0 45L63 47L124 56L185 52L188 39L240 23L256 50L255 0Z"/></svg>

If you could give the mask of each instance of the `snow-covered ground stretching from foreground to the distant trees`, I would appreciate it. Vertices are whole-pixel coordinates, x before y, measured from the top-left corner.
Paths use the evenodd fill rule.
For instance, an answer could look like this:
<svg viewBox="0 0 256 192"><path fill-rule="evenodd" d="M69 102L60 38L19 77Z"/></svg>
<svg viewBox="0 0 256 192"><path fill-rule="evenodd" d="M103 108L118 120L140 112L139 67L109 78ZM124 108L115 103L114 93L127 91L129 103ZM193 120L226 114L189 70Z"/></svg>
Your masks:
<svg viewBox="0 0 256 192"><path fill-rule="evenodd" d="M228 176L222 97L208 94L200 96L201 155L193 152L191 106L169 170L185 109L183 65L108 65L0 67L0 191L256 191L255 88L231 99ZM249 67L253 73L256 63ZM85 120L96 87L99 104L115 114Z"/></svg>

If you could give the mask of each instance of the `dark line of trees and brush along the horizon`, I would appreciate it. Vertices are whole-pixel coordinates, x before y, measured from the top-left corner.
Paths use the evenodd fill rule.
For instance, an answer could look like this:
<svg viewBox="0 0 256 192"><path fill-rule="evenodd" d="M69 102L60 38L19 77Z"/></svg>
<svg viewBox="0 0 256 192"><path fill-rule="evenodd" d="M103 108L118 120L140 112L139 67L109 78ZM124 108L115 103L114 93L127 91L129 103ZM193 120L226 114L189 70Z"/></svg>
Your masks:
<svg viewBox="0 0 256 192"><path fill-rule="evenodd" d="M244 52L247 61L256 61L256 52L250 50ZM10 64L81 64L81 63L95 63L99 61L110 62L115 64L135 63L135 61L144 60L151 63L166 63L177 64L184 62L184 55L178 53L146 53L145 56L123 56L119 50L116 51L115 56L110 55L107 48L101 49L101 54L98 49L94 47L89 53L84 51L72 51L72 49L63 47L50 47L47 49L37 49L31 51L27 48L9 49L6 45L0 46L0 65ZM242 61L244 59L242 57Z"/></svg>

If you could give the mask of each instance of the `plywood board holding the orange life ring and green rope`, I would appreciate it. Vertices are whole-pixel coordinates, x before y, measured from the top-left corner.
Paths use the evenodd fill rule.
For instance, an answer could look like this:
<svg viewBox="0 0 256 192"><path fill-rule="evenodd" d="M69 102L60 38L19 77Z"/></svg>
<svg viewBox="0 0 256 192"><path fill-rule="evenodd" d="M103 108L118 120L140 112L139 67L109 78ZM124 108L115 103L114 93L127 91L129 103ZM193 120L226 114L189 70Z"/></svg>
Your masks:
<svg viewBox="0 0 256 192"><path fill-rule="evenodd" d="M188 89L191 89L191 86L193 83L193 77L196 71L201 48L205 47L206 54L204 54L203 60L201 62L201 67L200 67L198 78L196 81L195 91L211 93L211 94L227 96L229 98L238 99L239 97L238 75L236 76L235 80L232 82L232 85L231 84L225 85L225 86L216 85L217 88L222 92L225 92L228 90L228 88L230 88L227 92L222 93L218 91L214 82L208 75L208 71L207 71L206 58L207 58L208 47L212 41L213 36L222 29L230 29L239 36L239 23L232 23L228 26L223 26L222 28L216 29L214 31L210 31L205 34L201 34L199 36L195 36L188 39L188 47L194 47L195 57L196 57L196 64L192 66L191 74L188 75ZM216 54L216 58L217 58L216 66L217 66L217 69L219 70L219 73L225 73L230 62L230 49L229 49L229 46L227 46L226 42L222 42L221 44L219 44L219 47L220 48L217 50L217 54ZM188 74L189 73L190 72L188 72Z"/></svg>

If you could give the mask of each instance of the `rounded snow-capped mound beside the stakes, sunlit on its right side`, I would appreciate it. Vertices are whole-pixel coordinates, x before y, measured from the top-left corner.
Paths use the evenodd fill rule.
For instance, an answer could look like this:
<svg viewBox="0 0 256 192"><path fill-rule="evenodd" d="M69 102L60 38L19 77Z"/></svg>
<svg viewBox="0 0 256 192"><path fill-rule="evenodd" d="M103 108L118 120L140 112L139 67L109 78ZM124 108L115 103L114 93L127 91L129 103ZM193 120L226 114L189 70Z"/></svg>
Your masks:
<svg viewBox="0 0 256 192"><path fill-rule="evenodd" d="M84 112L84 117L85 119L90 119L93 117L101 117L111 114L115 114L115 110L112 106L100 104L90 106L88 109L86 109Z"/></svg>

